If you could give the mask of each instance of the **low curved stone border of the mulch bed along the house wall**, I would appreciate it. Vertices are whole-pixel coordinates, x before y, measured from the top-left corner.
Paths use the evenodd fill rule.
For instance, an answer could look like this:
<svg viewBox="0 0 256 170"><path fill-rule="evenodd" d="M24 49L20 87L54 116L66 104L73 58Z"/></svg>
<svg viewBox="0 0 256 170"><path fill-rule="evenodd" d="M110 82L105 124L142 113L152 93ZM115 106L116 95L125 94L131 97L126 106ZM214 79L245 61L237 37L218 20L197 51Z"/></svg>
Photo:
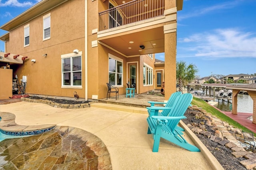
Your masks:
<svg viewBox="0 0 256 170"><path fill-rule="evenodd" d="M66 109L86 108L86 107L90 107L91 103L95 103L95 102L89 102L89 103L81 103L81 104L60 104L60 103L52 102L51 100L30 99L30 98L20 98L20 100L24 102L43 103L43 104L48 104L52 107L66 108Z"/></svg>

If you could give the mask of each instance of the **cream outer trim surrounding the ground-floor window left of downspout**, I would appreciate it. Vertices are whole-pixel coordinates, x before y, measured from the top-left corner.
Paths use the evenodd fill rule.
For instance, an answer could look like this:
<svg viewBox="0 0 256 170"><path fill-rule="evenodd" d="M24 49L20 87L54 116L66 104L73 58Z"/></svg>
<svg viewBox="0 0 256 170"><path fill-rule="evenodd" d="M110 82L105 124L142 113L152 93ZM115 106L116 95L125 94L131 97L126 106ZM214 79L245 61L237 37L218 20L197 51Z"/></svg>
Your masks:
<svg viewBox="0 0 256 170"><path fill-rule="evenodd" d="M61 55L61 60L65 58L71 58L71 57L79 57L81 56L81 74L82 74L82 51L79 51L78 54L76 53L68 53L68 54L63 54ZM82 75L81 75L82 77ZM71 86L71 85L63 85L63 72L62 72L62 61L61 61L61 88L73 88L73 89L82 89L81 86ZM82 83L82 82L81 82Z"/></svg>

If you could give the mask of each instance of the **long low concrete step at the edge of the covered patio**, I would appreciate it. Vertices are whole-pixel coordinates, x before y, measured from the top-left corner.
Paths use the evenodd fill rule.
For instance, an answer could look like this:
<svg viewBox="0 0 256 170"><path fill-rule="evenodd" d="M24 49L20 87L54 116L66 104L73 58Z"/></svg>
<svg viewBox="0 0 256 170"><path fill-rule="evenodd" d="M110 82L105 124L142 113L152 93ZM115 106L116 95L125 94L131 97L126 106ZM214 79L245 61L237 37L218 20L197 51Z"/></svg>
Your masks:
<svg viewBox="0 0 256 170"><path fill-rule="evenodd" d="M90 107L98 107L102 109L112 109L112 110L127 111L132 113L148 114L148 110L146 108L123 106L123 105L117 105L117 104L93 103L93 104L90 104Z"/></svg>

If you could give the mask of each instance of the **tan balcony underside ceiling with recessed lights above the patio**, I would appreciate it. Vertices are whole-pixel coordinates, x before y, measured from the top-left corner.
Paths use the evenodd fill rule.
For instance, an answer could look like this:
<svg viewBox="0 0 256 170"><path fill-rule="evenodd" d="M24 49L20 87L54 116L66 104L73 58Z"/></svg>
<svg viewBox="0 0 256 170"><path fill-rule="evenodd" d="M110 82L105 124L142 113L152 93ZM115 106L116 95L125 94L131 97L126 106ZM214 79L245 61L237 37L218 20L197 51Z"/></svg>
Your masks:
<svg viewBox="0 0 256 170"><path fill-rule="evenodd" d="M128 34L120 33L120 35L102 37L99 41L127 57L162 53L164 52L164 28L156 27L138 32L134 30L132 33ZM129 43L130 41L134 43ZM141 49L140 45L144 45L145 48Z"/></svg>

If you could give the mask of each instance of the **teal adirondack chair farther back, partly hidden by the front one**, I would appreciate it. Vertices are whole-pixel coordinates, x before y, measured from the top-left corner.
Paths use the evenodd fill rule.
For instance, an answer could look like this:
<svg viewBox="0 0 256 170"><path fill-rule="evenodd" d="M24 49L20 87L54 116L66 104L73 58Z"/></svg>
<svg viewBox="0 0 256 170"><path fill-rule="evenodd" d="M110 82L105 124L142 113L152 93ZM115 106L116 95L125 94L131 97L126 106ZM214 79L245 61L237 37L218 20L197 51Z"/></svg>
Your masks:
<svg viewBox="0 0 256 170"><path fill-rule="evenodd" d="M158 116L167 116L168 113L170 112L170 110L165 109L165 110L163 110L162 112L159 112L159 110L162 110L162 109L161 109L162 107L154 106L154 104L166 104L166 105L164 106L164 108L170 107L170 109L171 109L171 107L173 106L173 104L174 104L176 98L177 98L178 96L180 96L181 94L182 94L181 92L175 92L175 93L173 93L173 94L170 96L169 100L168 100L166 103L164 103L164 102L148 102L148 103L151 104L150 107L147 107L147 109L148 109L148 115L149 115L149 116L153 116L153 115L155 115L155 116L157 116L157 115L158 115Z"/></svg>

